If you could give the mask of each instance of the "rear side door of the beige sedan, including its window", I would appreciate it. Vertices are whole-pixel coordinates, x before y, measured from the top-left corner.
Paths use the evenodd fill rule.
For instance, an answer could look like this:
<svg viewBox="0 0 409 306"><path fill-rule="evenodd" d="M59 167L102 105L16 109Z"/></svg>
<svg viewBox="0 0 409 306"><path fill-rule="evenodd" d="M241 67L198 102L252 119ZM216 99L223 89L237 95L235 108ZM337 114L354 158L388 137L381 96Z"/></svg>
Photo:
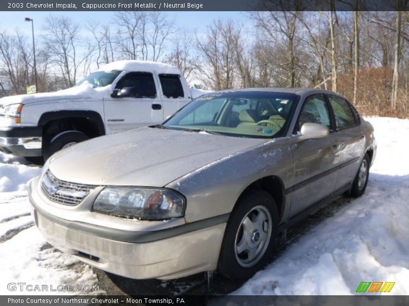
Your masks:
<svg viewBox="0 0 409 306"><path fill-rule="evenodd" d="M335 189L351 183L358 171L365 150L365 135L359 124L359 116L343 97L327 95L334 116L336 142L339 146L339 169Z"/></svg>

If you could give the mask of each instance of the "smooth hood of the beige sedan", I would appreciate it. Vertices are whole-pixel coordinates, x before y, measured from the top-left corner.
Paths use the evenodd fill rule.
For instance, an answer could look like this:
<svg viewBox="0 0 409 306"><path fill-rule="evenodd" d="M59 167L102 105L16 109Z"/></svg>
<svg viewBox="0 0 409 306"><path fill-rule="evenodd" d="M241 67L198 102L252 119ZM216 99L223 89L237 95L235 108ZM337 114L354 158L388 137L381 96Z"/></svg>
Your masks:
<svg viewBox="0 0 409 306"><path fill-rule="evenodd" d="M266 141L143 127L61 150L49 167L58 179L67 182L163 187L197 168Z"/></svg>

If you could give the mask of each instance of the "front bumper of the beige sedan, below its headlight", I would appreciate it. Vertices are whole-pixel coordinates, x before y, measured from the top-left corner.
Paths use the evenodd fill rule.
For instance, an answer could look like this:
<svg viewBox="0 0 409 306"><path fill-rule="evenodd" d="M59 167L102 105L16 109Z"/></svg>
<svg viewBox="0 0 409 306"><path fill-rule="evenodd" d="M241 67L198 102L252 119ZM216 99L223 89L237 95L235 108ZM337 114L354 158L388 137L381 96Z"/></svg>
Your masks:
<svg viewBox="0 0 409 306"><path fill-rule="evenodd" d="M58 205L44 198L38 188L38 179L30 184L29 197L35 223L47 241L96 268L138 279L172 279L217 268L228 216L213 224L203 225L202 222L206 227L192 227L196 223L192 222L157 231L134 232L52 215L50 211L55 211ZM50 211L48 205L52 207ZM62 210L73 210L60 206Z"/></svg>

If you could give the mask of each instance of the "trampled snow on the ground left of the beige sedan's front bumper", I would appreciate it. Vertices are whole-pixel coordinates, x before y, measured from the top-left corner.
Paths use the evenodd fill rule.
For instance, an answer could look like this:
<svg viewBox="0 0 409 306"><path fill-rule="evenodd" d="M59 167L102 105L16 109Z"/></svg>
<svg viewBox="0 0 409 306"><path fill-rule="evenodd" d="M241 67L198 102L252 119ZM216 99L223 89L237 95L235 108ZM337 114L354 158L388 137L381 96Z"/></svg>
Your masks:
<svg viewBox="0 0 409 306"><path fill-rule="evenodd" d="M54 286L48 287L49 294L63 293L51 291L58 285L97 285L97 276L89 266L51 247L33 226L27 185L41 168L25 163L24 158L0 152L0 294L47 294L32 291L35 287L22 291L17 287L10 292L9 283ZM72 293L86 293L76 289Z"/></svg>

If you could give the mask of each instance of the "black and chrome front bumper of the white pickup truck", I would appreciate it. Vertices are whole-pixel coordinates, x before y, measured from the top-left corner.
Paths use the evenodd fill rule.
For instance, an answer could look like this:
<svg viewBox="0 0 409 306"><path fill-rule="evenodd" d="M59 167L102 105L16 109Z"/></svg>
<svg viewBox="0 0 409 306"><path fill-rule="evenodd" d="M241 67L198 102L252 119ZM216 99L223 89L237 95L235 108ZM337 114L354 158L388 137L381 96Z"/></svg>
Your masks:
<svg viewBox="0 0 409 306"><path fill-rule="evenodd" d="M15 156L41 156L41 126L0 127L0 151Z"/></svg>

